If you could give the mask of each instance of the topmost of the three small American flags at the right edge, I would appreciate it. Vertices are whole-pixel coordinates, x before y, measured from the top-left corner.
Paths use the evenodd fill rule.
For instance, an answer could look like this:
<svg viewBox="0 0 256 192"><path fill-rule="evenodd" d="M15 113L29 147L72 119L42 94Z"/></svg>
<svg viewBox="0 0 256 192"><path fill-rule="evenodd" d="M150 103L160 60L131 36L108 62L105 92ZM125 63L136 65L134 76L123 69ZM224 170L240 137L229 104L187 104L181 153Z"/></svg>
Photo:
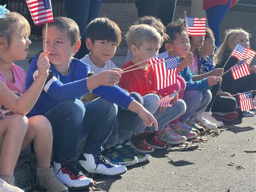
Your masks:
<svg viewBox="0 0 256 192"><path fill-rule="evenodd" d="M248 58L246 59L246 63L250 65L255 53L256 52L251 50L250 48L245 48L238 44L232 51L231 56L236 57L239 61Z"/></svg>

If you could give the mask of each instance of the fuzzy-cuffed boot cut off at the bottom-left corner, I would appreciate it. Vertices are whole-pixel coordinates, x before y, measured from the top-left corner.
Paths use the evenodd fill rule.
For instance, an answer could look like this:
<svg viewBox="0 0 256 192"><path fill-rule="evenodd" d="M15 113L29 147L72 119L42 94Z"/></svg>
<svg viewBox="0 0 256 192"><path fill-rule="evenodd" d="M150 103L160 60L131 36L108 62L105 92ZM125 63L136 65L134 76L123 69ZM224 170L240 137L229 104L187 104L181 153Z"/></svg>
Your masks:
<svg viewBox="0 0 256 192"><path fill-rule="evenodd" d="M24 192L24 190L14 185L14 177L0 177L0 192Z"/></svg>

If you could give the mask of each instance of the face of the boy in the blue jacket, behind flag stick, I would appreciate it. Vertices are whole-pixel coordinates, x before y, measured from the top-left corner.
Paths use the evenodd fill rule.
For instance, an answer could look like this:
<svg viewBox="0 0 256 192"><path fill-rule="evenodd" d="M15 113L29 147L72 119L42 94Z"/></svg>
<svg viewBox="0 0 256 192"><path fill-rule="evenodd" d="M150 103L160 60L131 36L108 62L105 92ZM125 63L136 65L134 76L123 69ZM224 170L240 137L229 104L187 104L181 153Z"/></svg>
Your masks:
<svg viewBox="0 0 256 192"><path fill-rule="evenodd" d="M42 36L45 38L45 30ZM55 26L48 27L47 51L50 52L48 58L53 65L69 65L70 59L77 51L75 47L75 45L71 46L67 32ZM43 43L43 48L45 50L45 43Z"/></svg>

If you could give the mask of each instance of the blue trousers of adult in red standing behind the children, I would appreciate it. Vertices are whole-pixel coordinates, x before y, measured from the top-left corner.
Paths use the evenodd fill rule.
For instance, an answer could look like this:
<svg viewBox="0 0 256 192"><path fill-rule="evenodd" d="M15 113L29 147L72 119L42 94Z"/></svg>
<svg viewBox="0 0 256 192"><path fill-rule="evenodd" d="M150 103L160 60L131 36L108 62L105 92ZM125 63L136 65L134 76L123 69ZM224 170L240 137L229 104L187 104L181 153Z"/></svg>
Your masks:
<svg viewBox="0 0 256 192"><path fill-rule="evenodd" d="M230 0L226 5L217 5L205 10L209 28L214 32L215 46L220 47L220 25L229 10Z"/></svg>

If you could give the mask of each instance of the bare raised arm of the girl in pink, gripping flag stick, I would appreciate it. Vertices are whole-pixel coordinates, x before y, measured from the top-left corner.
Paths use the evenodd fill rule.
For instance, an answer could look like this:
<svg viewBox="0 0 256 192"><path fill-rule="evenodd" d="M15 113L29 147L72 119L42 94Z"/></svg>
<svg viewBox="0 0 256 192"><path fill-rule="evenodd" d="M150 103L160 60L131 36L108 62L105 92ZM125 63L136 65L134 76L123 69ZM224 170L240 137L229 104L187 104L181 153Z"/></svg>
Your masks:
<svg viewBox="0 0 256 192"><path fill-rule="evenodd" d="M18 97L14 94L3 81L0 81L0 103L5 105L5 108L14 113L26 115L33 108L37 101L42 88L44 87L48 71L50 68L48 52L42 52L37 61L38 76L32 83L31 87L22 96Z"/></svg>

